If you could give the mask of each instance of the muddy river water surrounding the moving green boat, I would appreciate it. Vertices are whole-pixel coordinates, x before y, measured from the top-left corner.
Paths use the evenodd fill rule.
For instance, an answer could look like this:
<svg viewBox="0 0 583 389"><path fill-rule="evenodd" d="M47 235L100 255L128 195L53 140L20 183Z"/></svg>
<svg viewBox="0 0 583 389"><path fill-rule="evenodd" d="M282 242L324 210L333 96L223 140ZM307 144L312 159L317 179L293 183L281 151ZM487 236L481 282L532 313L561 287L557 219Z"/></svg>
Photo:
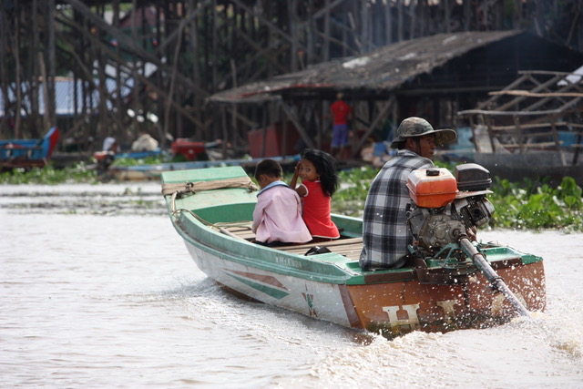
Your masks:
<svg viewBox="0 0 583 389"><path fill-rule="evenodd" d="M159 189L0 186L0 387L583 387L583 234L480 231L545 258L534 321L387 341L222 291Z"/></svg>

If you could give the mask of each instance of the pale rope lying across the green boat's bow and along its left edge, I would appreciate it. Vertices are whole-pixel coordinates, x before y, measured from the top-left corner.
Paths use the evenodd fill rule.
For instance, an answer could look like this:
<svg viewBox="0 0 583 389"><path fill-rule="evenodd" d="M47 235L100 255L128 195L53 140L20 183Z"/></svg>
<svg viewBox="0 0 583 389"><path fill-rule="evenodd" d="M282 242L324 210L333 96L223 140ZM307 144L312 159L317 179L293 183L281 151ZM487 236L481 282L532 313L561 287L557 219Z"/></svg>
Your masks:
<svg viewBox="0 0 583 389"><path fill-rule="evenodd" d="M176 216L179 212L187 212L192 215L193 218L199 220L205 226L216 228L218 230L229 228L229 227L240 227L248 228L251 230L251 221L230 221L230 222L217 222L211 223L210 221L204 220L199 215L194 213L192 210L187 210L184 208L176 208L176 199L181 199L184 196L196 194L203 190L212 189L227 189L227 188L243 188L249 191L259 190L257 186L251 181L249 177L241 177L238 179L216 179L213 181L196 181L196 182L179 182L179 183L169 183L162 184L162 195L170 196L170 210L172 210L172 216Z"/></svg>

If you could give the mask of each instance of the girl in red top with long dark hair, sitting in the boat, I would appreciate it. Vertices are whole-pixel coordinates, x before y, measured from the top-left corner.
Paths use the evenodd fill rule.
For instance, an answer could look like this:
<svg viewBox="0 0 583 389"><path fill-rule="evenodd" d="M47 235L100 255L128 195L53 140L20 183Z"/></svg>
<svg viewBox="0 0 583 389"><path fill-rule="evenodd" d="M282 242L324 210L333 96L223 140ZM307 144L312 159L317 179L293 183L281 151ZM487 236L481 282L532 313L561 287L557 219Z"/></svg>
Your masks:
<svg viewBox="0 0 583 389"><path fill-rule="evenodd" d="M296 187L298 177L302 183ZM338 188L335 160L322 150L306 148L293 171L292 189L302 198L303 221L314 241L332 241L340 232L330 216L332 195Z"/></svg>

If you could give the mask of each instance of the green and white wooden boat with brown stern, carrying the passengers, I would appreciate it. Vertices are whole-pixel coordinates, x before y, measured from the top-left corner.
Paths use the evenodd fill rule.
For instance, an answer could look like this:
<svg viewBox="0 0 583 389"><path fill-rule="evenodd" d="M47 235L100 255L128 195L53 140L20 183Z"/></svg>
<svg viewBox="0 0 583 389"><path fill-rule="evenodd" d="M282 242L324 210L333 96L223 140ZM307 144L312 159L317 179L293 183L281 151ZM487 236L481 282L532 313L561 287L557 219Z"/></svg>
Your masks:
<svg viewBox="0 0 583 389"><path fill-rule="evenodd" d="M333 215L337 241L265 247L253 242L257 192L240 167L169 171L162 182L170 220L199 269L253 300L389 338L495 325L517 312L460 246L445 258L446 250L401 269L363 271L360 219ZM475 249L527 311L544 310L542 258L496 243Z"/></svg>

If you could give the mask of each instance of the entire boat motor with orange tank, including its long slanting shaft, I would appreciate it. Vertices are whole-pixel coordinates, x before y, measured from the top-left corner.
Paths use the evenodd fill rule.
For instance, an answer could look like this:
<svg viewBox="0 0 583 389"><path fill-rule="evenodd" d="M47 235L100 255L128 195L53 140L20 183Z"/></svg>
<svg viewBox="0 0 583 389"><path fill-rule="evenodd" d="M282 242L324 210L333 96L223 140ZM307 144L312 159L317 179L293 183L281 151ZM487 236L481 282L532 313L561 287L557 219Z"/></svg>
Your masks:
<svg viewBox="0 0 583 389"><path fill-rule="evenodd" d="M486 224L492 217L494 206L486 199L491 184L490 172L475 163L455 167L455 178L447 169L411 172L407 188L413 202L408 221L416 240L411 246L415 271L422 283L457 283L467 279L473 264L517 313L530 317L465 232ZM430 270L425 259L441 261L442 272Z"/></svg>

